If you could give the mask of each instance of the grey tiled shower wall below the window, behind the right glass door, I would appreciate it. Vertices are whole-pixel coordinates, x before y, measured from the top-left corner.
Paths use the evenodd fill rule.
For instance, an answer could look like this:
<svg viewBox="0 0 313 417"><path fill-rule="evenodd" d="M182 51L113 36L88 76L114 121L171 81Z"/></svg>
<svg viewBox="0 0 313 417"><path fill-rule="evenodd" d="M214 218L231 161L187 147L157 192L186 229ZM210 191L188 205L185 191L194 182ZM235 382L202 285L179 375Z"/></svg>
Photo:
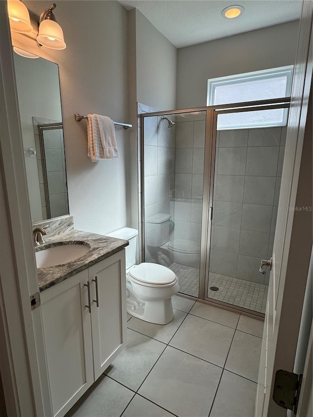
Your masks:
<svg viewBox="0 0 313 417"><path fill-rule="evenodd" d="M286 128L219 131L210 271L268 284Z"/></svg>

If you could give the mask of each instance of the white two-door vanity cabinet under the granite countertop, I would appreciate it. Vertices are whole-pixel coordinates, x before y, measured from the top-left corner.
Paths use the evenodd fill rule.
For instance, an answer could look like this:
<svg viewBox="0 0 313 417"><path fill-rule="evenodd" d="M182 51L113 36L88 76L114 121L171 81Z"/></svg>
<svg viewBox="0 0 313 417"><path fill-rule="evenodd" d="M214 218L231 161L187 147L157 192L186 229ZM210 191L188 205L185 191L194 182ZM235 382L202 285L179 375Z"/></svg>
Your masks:
<svg viewBox="0 0 313 417"><path fill-rule="evenodd" d="M126 344L125 270L123 249L41 293L54 416L64 416Z"/></svg>

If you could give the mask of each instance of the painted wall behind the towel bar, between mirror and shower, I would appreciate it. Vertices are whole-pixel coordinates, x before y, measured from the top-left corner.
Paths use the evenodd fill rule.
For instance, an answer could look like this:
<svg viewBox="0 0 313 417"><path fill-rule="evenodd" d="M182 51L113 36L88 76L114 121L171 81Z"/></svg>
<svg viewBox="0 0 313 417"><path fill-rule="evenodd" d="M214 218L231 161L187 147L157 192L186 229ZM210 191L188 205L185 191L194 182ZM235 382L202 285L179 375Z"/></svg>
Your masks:
<svg viewBox="0 0 313 417"><path fill-rule="evenodd" d="M46 1L24 1L40 15ZM74 113L99 113L128 123L127 11L116 1L59 1L55 16L67 48L41 48L22 35L15 43L59 64L69 211L75 227L101 234L130 218L129 131L116 128L120 157L91 162L86 121Z"/></svg>

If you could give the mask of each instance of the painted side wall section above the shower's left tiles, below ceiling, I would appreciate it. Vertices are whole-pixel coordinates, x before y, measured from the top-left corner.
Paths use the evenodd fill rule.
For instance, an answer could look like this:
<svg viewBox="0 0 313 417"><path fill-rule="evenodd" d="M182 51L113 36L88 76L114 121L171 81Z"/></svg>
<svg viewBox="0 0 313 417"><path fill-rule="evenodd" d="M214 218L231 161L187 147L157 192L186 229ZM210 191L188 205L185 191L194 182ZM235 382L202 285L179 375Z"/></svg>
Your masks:
<svg viewBox="0 0 313 417"><path fill-rule="evenodd" d="M158 110L175 109L177 49L139 10L135 14L137 101Z"/></svg>

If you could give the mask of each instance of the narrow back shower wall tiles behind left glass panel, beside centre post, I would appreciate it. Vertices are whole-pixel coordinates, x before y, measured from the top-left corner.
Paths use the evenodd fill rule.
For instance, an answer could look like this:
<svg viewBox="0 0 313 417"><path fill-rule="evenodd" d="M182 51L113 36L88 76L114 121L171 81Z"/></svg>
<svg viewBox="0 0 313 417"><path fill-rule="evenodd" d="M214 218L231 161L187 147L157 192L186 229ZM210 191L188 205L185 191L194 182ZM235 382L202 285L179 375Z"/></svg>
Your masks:
<svg viewBox="0 0 313 417"><path fill-rule="evenodd" d="M205 112L187 116L176 121L174 239L200 248ZM200 253L190 260L179 256L174 262L199 268Z"/></svg>

